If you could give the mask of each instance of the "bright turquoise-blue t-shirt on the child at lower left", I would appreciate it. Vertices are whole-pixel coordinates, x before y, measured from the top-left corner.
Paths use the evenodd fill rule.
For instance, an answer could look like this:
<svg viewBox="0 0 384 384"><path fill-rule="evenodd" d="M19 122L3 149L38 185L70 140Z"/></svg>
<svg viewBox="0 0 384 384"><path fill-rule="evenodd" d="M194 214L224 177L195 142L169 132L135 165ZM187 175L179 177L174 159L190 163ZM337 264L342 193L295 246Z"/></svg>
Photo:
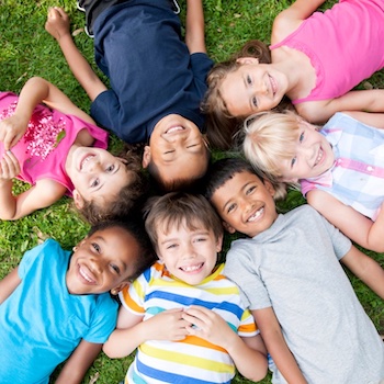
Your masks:
<svg viewBox="0 0 384 384"><path fill-rule="evenodd" d="M103 343L115 328L109 293L72 295L66 286L70 252L48 239L27 251L20 285L0 305L0 383L48 383L81 339Z"/></svg>

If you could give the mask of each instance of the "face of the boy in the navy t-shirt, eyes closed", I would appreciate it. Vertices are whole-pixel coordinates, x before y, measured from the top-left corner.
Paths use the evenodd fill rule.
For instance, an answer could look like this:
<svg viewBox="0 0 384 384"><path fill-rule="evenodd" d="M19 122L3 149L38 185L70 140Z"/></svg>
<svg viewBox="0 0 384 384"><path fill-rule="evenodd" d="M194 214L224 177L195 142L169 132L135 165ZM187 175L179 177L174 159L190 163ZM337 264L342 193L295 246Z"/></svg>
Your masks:
<svg viewBox="0 0 384 384"><path fill-rule="evenodd" d="M170 114L155 126L149 146L145 148L143 167L153 161L161 180L197 179L208 163L203 135L191 121Z"/></svg>

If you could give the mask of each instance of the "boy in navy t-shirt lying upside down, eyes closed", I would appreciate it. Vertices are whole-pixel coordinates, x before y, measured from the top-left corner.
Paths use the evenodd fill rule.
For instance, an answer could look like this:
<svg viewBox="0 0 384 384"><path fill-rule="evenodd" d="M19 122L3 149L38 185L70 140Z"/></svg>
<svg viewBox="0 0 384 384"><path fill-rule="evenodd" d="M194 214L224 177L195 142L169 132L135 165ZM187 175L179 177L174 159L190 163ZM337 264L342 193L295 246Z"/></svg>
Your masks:
<svg viewBox="0 0 384 384"><path fill-rule="evenodd" d="M210 158L200 103L213 61L206 55L202 1L187 3L184 43L172 1L78 2L111 89L76 47L63 9L50 9L45 26L92 100L92 117L126 143L148 143L143 166L165 190L200 179Z"/></svg>

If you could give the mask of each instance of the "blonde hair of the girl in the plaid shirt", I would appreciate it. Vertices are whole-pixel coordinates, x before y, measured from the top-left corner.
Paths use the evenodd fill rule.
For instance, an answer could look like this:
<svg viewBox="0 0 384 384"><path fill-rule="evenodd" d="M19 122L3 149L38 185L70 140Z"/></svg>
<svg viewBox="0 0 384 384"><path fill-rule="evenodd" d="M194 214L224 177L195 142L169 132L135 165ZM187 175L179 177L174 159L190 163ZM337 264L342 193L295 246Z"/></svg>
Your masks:
<svg viewBox="0 0 384 384"><path fill-rule="evenodd" d="M281 180L281 163L295 156L301 122L303 120L291 111L249 116L244 123L242 143L248 161L261 172Z"/></svg>

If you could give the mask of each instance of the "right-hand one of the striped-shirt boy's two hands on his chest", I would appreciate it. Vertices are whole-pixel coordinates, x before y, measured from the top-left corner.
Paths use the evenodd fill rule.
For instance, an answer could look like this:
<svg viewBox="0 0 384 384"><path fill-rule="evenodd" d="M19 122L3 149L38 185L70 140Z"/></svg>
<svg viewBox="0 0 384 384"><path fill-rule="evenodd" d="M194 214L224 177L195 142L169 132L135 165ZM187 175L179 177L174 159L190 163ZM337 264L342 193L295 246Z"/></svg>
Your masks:
<svg viewBox="0 0 384 384"><path fill-rule="evenodd" d="M189 335L201 337L222 348L225 348L225 342L230 339L226 335L234 334L222 316L202 306L191 305L184 312L183 318L192 324L188 328Z"/></svg>

